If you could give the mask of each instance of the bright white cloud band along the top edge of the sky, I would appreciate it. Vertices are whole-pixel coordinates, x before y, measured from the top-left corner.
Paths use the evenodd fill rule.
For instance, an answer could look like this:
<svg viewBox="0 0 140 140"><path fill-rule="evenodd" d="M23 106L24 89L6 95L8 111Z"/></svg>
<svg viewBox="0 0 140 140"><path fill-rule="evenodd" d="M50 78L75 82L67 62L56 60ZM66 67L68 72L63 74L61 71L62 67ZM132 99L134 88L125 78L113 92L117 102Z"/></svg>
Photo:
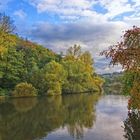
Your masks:
<svg viewBox="0 0 140 140"><path fill-rule="evenodd" d="M57 14L67 20L69 18L78 20L79 16L95 20L101 16L108 20L127 12L139 13L140 9L139 0L132 0L132 2L129 0L29 0L28 2L37 9L38 13ZM107 13L96 12L93 7L97 4L106 9Z"/></svg>

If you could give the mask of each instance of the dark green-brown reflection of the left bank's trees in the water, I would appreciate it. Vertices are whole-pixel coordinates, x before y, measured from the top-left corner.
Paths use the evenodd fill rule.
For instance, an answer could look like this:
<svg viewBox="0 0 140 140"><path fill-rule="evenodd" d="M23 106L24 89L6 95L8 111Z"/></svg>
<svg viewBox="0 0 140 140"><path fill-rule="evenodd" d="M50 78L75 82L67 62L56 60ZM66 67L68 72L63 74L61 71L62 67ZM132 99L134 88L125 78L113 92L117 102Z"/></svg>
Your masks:
<svg viewBox="0 0 140 140"><path fill-rule="evenodd" d="M95 121L98 94L10 99L0 103L0 139L34 140L62 127L81 138Z"/></svg>

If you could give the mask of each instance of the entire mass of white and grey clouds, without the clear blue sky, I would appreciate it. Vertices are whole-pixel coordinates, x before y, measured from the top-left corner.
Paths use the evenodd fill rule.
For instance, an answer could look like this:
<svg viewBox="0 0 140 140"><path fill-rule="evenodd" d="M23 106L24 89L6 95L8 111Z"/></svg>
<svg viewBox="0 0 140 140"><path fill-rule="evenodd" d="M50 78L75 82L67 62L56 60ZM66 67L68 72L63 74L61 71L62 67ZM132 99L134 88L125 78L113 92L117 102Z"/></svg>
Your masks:
<svg viewBox="0 0 140 140"><path fill-rule="evenodd" d="M27 1L27 0L26 0ZM89 50L94 59L96 70L102 72L120 71L121 67L108 67L108 61L99 53L120 40L122 31L140 25L139 0L29 0L38 13L54 14L61 23L41 22L30 31L29 36L56 52L65 51L73 44L81 44ZM100 6L105 13L97 12ZM130 14L126 14L130 13ZM122 18L113 20L122 15ZM103 63L102 63L103 62Z"/></svg>

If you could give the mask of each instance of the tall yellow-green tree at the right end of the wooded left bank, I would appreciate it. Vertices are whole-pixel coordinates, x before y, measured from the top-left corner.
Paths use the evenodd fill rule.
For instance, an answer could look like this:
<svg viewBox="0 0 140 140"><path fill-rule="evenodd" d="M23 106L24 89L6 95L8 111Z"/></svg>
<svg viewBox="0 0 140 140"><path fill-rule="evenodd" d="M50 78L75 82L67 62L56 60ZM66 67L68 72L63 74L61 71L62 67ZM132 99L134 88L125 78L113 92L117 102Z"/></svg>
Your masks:
<svg viewBox="0 0 140 140"><path fill-rule="evenodd" d="M91 54L82 52L81 47L74 45L67 51L62 65L68 73L67 81L63 86L66 93L99 91L101 78L95 76Z"/></svg>

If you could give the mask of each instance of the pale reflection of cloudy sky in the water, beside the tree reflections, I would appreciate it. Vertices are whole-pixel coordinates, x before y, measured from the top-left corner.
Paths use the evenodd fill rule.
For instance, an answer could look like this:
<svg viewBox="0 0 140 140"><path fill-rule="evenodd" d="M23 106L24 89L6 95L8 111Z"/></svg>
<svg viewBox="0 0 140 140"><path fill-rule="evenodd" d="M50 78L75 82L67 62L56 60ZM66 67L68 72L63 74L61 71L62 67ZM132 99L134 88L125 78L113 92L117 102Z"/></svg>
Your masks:
<svg viewBox="0 0 140 140"><path fill-rule="evenodd" d="M124 140L123 121L127 117L127 97L103 96L96 106L96 122L84 131L83 140ZM50 133L44 140L73 140L67 128Z"/></svg>

